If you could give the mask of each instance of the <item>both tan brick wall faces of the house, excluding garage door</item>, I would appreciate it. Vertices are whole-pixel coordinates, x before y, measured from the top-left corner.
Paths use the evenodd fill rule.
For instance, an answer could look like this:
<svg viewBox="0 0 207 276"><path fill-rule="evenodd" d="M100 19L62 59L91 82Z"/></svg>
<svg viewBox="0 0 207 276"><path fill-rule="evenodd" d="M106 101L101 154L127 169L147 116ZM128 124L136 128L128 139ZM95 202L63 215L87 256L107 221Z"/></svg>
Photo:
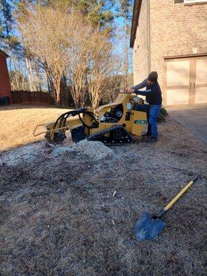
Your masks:
<svg viewBox="0 0 207 276"><path fill-rule="evenodd" d="M147 1L142 1L133 48L134 82L148 75ZM187 5L175 0L150 2L150 70L157 70L164 88L164 57L207 53L207 4Z"/></svg>

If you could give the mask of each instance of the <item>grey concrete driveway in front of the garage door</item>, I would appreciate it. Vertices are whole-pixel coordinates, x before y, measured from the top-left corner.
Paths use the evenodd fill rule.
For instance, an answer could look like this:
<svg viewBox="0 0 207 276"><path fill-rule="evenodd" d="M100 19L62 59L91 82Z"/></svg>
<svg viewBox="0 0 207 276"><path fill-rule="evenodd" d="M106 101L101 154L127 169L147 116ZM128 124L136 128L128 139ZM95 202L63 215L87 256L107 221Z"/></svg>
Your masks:
<svg viewBox="0 0 207 276"><path fill-rule="evenodd" d="M207 145L207 106L166 109L173 119Z"/></svg>

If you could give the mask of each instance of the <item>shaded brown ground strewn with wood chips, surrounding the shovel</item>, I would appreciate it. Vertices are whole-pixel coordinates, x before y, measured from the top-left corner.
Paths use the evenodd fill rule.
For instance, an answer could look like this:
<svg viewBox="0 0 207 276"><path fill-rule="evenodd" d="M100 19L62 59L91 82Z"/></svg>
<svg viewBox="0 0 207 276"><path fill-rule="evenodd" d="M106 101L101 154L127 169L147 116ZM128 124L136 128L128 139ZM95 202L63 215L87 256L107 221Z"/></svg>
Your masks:
<svg viewBox="0 0 207 276"><path fill-rule="evenodd" d="M0 274L206 275L207 148L170 118L159 131L157 144L39 141L2 152ZM195 175L163 233L137 241L141 213L159 211Z"/></svg>

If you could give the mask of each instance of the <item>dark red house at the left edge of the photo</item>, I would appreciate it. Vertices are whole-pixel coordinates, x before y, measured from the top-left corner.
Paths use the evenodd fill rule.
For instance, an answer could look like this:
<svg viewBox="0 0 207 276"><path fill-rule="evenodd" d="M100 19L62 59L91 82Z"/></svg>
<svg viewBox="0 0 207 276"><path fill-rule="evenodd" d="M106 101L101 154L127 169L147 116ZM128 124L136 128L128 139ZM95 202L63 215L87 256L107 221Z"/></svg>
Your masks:
<svg viewBox="0 0 207 276"><path fill-rule="evenodd" d="M11 99L10 78L6 63L7 57L6 52L0 50L0 97L8 96Z"/></svg>

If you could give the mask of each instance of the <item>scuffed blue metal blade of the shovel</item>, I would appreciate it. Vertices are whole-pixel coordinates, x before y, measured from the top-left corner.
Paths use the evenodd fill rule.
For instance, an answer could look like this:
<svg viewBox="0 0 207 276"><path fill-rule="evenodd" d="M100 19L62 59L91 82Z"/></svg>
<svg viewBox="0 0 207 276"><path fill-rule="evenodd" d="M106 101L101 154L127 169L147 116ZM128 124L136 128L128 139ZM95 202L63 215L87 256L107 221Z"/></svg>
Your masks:
<svg viewBox="0 0 207 276"><path fill-rule="evenodd" d="M144 213L135 225L135 237L138 240L150 241L155 239L164 227L165 224L161 219L153 219L153 215Z"/></svg>

